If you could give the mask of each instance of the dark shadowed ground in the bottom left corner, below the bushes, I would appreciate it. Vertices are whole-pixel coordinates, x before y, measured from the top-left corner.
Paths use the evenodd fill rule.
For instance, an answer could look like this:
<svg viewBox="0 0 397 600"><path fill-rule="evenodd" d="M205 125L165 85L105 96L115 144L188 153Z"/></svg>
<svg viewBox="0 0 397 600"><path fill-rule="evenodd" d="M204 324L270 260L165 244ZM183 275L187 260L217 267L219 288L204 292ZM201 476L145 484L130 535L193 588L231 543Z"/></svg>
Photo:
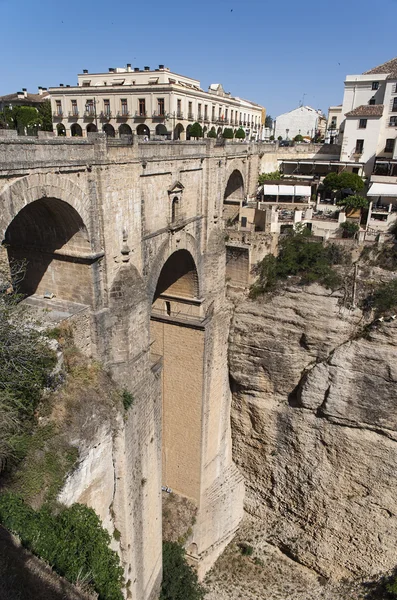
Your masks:
<svg viewBox="0 0 397 600"><path fill-rule="evenodd" d="M0 600L88 600L0 526ZM92 598L92 597L91 597Z"/></svg>

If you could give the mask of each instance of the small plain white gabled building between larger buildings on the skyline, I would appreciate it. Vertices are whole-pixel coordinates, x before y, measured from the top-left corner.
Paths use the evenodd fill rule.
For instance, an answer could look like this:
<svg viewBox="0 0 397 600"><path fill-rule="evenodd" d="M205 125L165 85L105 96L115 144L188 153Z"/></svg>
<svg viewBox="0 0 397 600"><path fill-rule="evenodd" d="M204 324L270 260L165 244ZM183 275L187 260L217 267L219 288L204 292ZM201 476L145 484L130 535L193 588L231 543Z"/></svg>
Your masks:
<svg viewBox="0 0 397 600"><path fill-rule="evenodd" d="M299 106L290 112L279 115L274 121L274 137L292 140L301 135L314 138L318 132L324 132L326 119L321 110L311 106Z"/></svg>

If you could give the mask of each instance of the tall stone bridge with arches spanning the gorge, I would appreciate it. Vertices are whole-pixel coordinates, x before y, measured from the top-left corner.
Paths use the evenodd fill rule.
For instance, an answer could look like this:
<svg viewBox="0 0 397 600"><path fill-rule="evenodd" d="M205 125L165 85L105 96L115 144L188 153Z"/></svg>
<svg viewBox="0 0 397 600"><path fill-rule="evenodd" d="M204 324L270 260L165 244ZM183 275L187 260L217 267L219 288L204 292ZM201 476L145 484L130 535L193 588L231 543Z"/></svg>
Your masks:
<svg viewBox="0 0 397 600"><path fill-rule="evenodd" d="M3 258L27 260L28 297L86 307L85 351L134 397L112 508L138 600L161 578L162 485L197 507L201 574L242 517L223 229L259 164L255 144L0 138Z"/></svg>

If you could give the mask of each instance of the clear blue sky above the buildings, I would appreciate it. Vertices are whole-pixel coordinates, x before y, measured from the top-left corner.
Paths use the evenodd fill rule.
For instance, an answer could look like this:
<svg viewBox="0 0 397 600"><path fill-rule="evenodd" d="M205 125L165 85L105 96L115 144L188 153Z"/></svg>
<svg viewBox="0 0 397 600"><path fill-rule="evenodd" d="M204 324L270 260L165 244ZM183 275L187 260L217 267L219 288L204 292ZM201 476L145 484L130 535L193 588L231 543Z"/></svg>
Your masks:
<svg viewBox="0 0 397 600"><path fill-rule="evenodd" d="M165 64L267 108L342 101L347 74L397 55L397 0L0 0L0 95ZM4 25L6 24L6 25Z"/></svg>

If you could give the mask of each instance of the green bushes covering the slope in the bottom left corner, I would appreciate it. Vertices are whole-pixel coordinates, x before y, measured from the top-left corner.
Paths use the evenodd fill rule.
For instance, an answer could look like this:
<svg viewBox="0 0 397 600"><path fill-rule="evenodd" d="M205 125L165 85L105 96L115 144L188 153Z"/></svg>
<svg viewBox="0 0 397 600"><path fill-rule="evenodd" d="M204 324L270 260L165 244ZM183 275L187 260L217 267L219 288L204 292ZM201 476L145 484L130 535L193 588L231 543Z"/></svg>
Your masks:
<svg viewBox="0 0 397 600"><path fill-rule="evenodd" d="M6 493L0 495L0 522L72 583L88 581L100 600L123 599L120 559L92 508L73 504L54 515L46 506L34 511Z"/></svg>

